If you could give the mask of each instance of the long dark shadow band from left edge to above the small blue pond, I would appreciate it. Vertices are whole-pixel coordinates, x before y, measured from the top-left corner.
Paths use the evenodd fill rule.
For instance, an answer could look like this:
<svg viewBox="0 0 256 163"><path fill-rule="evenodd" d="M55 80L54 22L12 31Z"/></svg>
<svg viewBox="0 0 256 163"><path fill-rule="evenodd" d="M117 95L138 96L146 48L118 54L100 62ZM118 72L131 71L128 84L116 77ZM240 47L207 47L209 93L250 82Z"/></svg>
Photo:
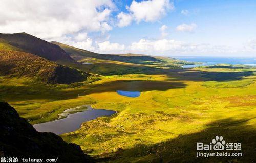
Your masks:
<svg viewBox="0 0 256 163"><path fill-rule="evenodd" d="M154 80L116 80L103 84L92 84L88 88L61 89L54 87L40 86L0 86L0 99L10 102L15 100L66 100L92 93L126 91L165 91L169 89L185 88L186 84L181 81L154 81ZM8 100L9 99L9 100Z"/></svg>

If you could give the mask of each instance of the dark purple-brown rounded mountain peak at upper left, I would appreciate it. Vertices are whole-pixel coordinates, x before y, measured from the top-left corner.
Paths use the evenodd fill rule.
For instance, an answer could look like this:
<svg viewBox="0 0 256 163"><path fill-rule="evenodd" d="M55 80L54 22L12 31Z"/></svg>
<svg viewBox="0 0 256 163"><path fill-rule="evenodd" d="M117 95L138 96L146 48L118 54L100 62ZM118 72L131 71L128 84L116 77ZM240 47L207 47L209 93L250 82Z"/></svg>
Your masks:
<svg viewBox="0 0 256 163"><path fill-rule="evenodd" d="M51 61L69 61L75 62L58 45L52 44L27 33L3 34L0 33L0 39L8 41L9 44L31 54L35 54Z"/></svg>

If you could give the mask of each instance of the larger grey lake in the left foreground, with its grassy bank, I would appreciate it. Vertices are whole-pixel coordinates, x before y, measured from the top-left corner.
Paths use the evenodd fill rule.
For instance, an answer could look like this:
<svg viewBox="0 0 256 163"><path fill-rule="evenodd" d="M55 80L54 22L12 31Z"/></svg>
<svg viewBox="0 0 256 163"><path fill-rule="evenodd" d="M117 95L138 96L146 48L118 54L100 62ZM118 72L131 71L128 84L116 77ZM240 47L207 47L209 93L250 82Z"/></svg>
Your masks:
<svg viewBox="0 0 256 163"><path fill-rule="evenodd" d="M59 135L76 131L81 128L83 122L96 119L97 117L110 116L115 113L116 111L113 110L93 109L89 105L83 105L65 110L59 115L60 118L57 120L39 123L33 126L39 132L53 132Z"/></svg>

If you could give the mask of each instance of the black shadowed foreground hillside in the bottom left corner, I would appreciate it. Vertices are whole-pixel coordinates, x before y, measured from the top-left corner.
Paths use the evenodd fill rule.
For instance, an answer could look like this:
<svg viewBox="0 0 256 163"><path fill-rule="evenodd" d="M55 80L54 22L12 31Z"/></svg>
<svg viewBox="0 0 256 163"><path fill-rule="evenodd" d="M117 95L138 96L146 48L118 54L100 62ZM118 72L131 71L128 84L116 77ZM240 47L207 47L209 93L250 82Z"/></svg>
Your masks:
<svg viewBox="0 0 256 163"><path fill-rule="evenodd" d="M80 146L50 132L37 132L8 103L0 102L0 156L54 158L57 162L92 162ZM21 161L21 160L19 160Z"/></svg>

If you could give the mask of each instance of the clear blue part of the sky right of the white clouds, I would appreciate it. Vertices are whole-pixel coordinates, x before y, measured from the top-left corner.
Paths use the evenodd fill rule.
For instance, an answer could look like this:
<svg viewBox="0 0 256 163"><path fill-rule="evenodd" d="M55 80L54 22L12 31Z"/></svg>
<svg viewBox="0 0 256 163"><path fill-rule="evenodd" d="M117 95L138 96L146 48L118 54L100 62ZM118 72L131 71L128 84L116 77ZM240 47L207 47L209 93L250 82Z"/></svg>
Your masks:
<svg viewBox="0 0 256 163"><path fill-rule="evenodd" d="M126 3L129 5L131 1ZM133 22L125 28L114 28L110 31L110 41L129 44L141 38L158 39L162 25L168 26L166 38L191 43L241 46L256 37L255 1L183 0L175 1L174 6L175 10L156 22ZM181 14L182 10L187 10L188 14ZM175 30L180 24L193 22L197 24L194 32Z"/></svg>

